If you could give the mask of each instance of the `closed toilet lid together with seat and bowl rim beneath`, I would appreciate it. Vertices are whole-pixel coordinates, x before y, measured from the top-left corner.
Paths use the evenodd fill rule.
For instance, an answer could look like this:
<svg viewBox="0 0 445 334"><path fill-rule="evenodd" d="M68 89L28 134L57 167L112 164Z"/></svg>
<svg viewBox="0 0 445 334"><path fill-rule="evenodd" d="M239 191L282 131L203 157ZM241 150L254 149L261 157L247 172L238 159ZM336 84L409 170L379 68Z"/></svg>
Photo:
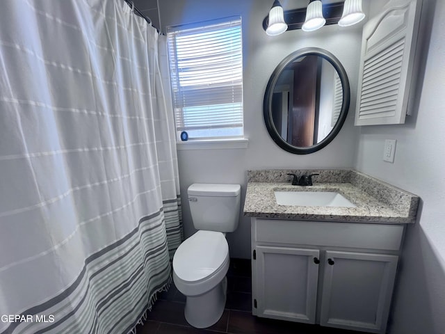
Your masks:
<svg viewBox="0 0 445 334"><path fill-rule="evenodd" d="M209 291L228 269L229 246L222 232L197 231L179 245L173 257L173 280L186 296Z"/></svg>

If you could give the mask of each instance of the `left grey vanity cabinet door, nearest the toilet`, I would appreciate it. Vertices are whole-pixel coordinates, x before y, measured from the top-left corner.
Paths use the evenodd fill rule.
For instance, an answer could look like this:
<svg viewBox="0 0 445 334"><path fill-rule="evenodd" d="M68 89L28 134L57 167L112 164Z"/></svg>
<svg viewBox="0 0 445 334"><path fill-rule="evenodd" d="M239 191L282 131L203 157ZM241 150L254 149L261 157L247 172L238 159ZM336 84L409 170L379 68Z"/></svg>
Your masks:
<svg viewBox="0 0 445 334"><path fill-rule="evenodd" d="M319 250L266 246L256 250L257 315L314 324Z"/></svg>

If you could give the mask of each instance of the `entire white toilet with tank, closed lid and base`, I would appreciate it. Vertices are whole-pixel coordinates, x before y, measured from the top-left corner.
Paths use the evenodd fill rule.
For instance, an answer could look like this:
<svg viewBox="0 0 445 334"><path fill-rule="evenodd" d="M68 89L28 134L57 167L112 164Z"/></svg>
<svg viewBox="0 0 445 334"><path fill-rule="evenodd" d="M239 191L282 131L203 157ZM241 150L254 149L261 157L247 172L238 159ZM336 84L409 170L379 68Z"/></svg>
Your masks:
<svg viewBox="0 0 445 334"><path fill-rule="evenodd" d="M187 194L197 232L176 250L173 281L186 296L188 324L206 328L216 324L225 308L229 269L225 233L238 227L241 186L192 184Z"/></svg>

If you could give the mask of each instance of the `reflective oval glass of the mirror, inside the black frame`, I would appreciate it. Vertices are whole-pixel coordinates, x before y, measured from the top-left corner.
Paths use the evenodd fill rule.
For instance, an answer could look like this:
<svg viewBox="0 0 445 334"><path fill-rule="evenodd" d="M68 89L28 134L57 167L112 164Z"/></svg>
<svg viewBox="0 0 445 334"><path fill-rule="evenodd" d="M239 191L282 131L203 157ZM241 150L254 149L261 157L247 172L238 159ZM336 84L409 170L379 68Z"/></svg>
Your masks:
<svg viewBox="0 0 445 334"><path fill-rule="evenodd" d="M273 89L271 116L276 131L296 147L323 141L337 122L341 90L337 71L328 61L317 55L296 58Z"/></svg>

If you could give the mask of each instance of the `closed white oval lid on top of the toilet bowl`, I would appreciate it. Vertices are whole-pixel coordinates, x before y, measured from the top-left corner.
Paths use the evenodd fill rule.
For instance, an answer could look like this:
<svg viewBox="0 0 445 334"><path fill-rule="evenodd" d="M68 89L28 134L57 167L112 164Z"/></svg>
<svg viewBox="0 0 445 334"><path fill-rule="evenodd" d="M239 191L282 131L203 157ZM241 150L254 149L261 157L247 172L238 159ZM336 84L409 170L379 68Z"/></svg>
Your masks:
<svg viewBox="0 0 445 334"><path fill-rule="evenodd" d="M181 280L202 280L218 270L228 255L229 246L223 233L200 230L178 247L173 270Z"/></svg>

